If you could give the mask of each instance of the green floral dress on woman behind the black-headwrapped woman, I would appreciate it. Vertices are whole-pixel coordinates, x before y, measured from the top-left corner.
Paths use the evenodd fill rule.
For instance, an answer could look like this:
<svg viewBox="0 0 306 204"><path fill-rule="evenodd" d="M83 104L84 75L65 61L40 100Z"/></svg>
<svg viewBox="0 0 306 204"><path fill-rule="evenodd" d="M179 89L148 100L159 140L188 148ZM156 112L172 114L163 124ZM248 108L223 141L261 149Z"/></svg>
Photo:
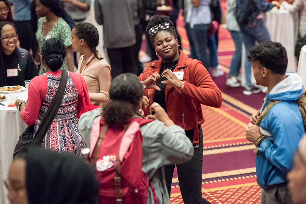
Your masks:
<svg viewBox="0 0 306 204"><path fill-rule="evenodd" d="M69 24L63 19L59 18L58 22L55 23L53 26L52 30L46 34L45 36L42 35L42 23L46 17L41 17L38 19L38 27L37 27L37 32L36 32L36 40L39 45L39 49L42 50L42 44L44 43L45 40L49 39L50 37L57 37L61 39L64 42L64 45L66 47L71 45L71 29ZM67 57L65 57L62 69L63 70L68 70L68 64L67 64ZM39 69L39 75L42 73L45 73L45 70L42 69L42 67Z"/></svg>

